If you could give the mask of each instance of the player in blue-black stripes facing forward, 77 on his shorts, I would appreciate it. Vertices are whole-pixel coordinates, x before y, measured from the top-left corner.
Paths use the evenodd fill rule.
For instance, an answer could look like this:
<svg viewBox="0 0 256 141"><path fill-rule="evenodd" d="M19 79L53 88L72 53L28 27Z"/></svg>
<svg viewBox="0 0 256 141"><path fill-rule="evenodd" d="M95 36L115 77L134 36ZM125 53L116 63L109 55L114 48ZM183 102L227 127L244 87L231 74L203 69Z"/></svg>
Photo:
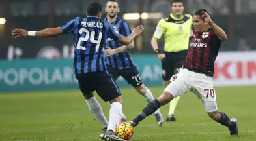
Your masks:
<svg viewBox="0 0 256 141"><path fill-rule="evenodd" d="M119 18L117 14L120 12L119 1L118 0L108 0L106 3L105 11L107 17L105 21L109 22L117 33L121 35L128 36L130 35L131 29L128 24ZM139 92L142 96L145 97L147 102L152 102L154 97L150 92L150 89L145 87L139 76L139 71L137 70L136 64L134 64L132 57L129 54L129 49L134 48L134 42L130 45L122 45L117 41L108 38L106 40L106 50L104 51L106 55L106 64L109 67L109 71L113 77L118 79L123 77L127 83L132 85L134 89ZM163 125L163 117L160 113L160 110L156 110L154 113L156 121L159 126Z"/></svg>

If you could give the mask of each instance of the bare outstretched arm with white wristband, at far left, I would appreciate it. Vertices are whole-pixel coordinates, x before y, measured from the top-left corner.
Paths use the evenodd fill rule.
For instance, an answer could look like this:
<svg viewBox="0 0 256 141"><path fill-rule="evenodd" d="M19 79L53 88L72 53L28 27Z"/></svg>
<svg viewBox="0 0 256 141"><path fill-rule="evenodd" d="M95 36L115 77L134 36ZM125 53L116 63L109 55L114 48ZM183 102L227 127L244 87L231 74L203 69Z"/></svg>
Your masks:
<svg viewBox="0 0 256 141"><path fill-rule="evenodd" d="M55 37L57 35L62 35L63 31L60 27L57 28L46 28L40 31L26 31L25 29L14 29L12 35L15 35L15 38L18 37Z"/></svg>

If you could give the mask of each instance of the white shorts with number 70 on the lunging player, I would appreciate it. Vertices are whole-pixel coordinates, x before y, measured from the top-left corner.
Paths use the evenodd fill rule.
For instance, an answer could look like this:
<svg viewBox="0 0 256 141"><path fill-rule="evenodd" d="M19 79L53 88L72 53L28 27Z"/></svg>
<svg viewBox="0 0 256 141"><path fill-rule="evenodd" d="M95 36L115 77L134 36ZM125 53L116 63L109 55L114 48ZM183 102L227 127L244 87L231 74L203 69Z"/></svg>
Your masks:
<svg viewBox="0 0 256 141"><path fill-rule="evenodd" d="M165 91L171 93L175 98L192 91L203 101L207 112L218 110L212 77L205 74L182 69L177 75L177 79L172 81L165 88Z"/></svg>

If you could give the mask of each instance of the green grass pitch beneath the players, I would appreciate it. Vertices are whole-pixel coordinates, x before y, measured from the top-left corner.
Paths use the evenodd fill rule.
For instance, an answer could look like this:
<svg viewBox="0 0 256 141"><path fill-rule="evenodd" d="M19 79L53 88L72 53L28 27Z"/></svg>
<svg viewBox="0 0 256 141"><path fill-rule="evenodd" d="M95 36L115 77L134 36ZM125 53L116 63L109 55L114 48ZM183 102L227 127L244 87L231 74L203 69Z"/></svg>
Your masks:
<svg viewBox="0 0 256 141"><path fill-rule="evenodd" d="M162 87L150 87L154 97ZM133 119L147 102L134 89L121 89L123 111ZM238 119L239 135L230 136L227 127L212 121L203 103L192 93L184 94L177 105L176 122L158 127L153 115L134 128L131 141L253 141L256 140L256 87L216 88L218 110ZM109 104L96 96L106 117ZM169 104L161 108L168 113ZM94 141L100 140L102 126L89 113L77 91L24 92L0 94L1 141Z"/></svg>

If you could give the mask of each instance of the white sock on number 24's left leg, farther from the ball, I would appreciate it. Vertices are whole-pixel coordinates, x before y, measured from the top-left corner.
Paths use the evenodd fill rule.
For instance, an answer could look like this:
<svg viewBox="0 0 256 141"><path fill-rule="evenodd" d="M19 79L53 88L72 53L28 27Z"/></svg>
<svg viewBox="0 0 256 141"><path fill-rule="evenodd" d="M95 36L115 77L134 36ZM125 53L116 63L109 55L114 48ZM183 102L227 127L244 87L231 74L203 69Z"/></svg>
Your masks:
<svg viewBox="0 0 256 141"><path fill-rule="evenodd" d="M100 121L100 123L105 127L108 127L108 121L106 120L106 117L102 111L102 108L100 106L100 103L96 100L95 96L92 98L89 98L89 100L85 100L89 110L91 111L92 115Z"/></svg>

